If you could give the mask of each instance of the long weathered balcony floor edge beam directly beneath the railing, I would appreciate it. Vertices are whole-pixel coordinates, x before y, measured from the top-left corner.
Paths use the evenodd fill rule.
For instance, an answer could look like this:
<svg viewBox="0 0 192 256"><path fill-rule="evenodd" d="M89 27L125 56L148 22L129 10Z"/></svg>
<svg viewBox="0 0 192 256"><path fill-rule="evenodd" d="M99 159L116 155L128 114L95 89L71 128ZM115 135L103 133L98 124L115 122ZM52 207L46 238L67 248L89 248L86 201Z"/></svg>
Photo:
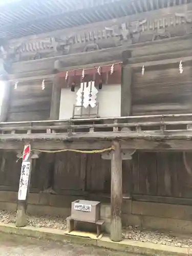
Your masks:
<svg viewBox="0 0 192 256"><path fill-rule="evenodd" d="M125 132L82 132L73 133L52 133L52 134L2 134L0 141L93 141L104 140L110 141L114 139L143 139L146 141L169 141L169 140L191 140L192 133L190 130L176 131L125 131Z"/></svg>

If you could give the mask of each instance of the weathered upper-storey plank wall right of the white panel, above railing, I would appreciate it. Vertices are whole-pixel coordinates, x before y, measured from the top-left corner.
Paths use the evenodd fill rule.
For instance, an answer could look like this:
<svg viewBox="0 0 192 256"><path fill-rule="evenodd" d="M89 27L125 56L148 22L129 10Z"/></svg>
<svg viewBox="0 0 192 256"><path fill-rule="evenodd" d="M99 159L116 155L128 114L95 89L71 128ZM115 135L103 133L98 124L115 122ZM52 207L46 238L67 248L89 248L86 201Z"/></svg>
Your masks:
<svg viewBox="0 0 192 256"><path fill-rule="evenodd" d="M133 74L132 115L191 113L192 67L149 70ZM142 69L142 67L141 67Z"/></svg>

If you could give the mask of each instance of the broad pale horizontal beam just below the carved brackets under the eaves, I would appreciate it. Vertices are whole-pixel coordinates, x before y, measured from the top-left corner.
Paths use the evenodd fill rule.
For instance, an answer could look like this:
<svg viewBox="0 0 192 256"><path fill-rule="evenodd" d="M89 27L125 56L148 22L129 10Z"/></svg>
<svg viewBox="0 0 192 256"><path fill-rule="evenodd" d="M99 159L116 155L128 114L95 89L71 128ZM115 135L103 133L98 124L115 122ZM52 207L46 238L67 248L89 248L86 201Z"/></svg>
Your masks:
<svg viewBox="0 0 192 256"><path fill-rule="evenodd" d="M14 76L10 75L9 78L12 82L15 81L15 77L18 78L19 82L28 81L29 77L30 80L51 80L55 76L54 74L50 74L50 71L54 70L55 61L57 61L59 64L59 71L76 69L79 66L82 66L83 68L89 67L93 66L93 63L98 63L96 66L101 66L99 63L121 61L121 54L123 51L127 50L127 47L129 47L130 51L133 50L134 55L140 55L140 52L142 52L142 55L150 55L150 51L152 49L153 51L154 49L157 49L157 54L159 51L169 53L170 49L169 47L167 47L167 45L170 44L172 44L172 52L177 52L182 49L184 50L185 48L190 50L190 41L191 35L180 37L179 40L178 37L176 37L157 41L147 41L133 45L130 45L127 42L123 46L102 49L98 51L82 52L65 56L37 59L35 60L35 62L34 60L27 61L27 63L26 61L15 62L12 65ZM183 44L181 44L182 42ZM43 70L47 70L47 72L43 73L42 75L36 75L37 72ZM23 74L25 77L22 77Z"/></svg>

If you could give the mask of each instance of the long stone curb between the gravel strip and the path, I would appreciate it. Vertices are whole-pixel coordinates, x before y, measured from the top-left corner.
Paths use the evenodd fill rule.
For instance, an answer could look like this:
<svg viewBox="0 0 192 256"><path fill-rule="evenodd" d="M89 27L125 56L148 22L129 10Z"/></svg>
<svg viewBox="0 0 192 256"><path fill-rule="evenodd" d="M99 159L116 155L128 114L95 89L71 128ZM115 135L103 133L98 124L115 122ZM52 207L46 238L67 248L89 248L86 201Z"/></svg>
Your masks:
<svg viewBox="0 0 192 256"><path fill-rule="evenodd" d="M55 229L55 228L31 227L31 226L17 228L13 223L12 224L0 223L0 231L7 234L19 234L25 237L38 238L38 239L41 239L42 241L48 240L48 241L56 241L59 243L69 243L69 244L73 243L73 244L76 244L76 246L78 247L81 247L82 245L89 245L89 246L102 247L109 250L117 250L119 251L118 255L123 255L122 252L123 253L126 252L134 256L138 254L148 255L148 256L151 256L151 255L155 255L155 256L191 255L192 256L191 248L181 248L181 247L170 246L170 245L153 244L149 242L143 243L140 241L133 241L130 239L124 239L123 241L117 243L117 242L112 242L108 236L103 236L100 239L94 239L94 238L90 239L86 237L72 236L72 235L66 234L65 230ZM1 242L1 238L0 238L0 242ZM0 251L1 251L1 248L0 248ZM19 255L19 254L16 254L16 255ZM29 254L29 255L33 255L33 254ZM60 254L56 254L56 255L60 255ZM82 255L85 256L89 254L82 254Z"/></svg>

